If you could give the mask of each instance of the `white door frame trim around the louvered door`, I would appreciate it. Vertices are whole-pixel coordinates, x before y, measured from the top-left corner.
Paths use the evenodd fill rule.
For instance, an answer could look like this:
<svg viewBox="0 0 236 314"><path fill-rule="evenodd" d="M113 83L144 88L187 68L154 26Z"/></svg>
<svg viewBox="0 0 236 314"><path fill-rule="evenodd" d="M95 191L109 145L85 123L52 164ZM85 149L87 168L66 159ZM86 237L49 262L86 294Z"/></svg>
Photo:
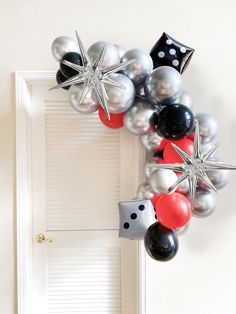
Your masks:
<svg viewBox="0 0 236 314"><path fill-rule="evenodd" d="M18 71L15 78L16 125L16 228L17 228L17 309L18 314L32 314L32 173L31 173L31 87L53 85L55 71ZM138 137L136 148L136 186L143 181L145 153ZM137 314L146 314L146 253L142 241L136 245Z"/></svg>

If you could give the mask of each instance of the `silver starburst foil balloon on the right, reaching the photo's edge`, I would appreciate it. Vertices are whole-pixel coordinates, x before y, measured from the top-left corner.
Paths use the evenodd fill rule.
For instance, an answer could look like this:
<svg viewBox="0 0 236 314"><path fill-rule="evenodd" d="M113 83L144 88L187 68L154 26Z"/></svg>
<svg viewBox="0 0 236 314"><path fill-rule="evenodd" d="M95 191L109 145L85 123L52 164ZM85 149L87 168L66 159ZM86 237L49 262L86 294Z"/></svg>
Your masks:
<svg viewBox="0 0 236 314"><path fill-rule="evenodd" d="M211 160L211 155L218 148L219 144L213 146L209 151L203 152L201 147L199 124L196 122L195 136L194 136L194 148L192 156L188 155L185 151L172 143L173 148L178 155L183 159L182 164L149 164L147 167L170 169L181 172L178 180L169 188L169 192L173 191L181 182L185 179L189 181L189 196L191 201L191 208L194 208L195 192L198 179L202 180L210 189L217 192L217 189L207 176L209 170L236 170L236 166L224 164L223 162L217 162Z"/></svg>

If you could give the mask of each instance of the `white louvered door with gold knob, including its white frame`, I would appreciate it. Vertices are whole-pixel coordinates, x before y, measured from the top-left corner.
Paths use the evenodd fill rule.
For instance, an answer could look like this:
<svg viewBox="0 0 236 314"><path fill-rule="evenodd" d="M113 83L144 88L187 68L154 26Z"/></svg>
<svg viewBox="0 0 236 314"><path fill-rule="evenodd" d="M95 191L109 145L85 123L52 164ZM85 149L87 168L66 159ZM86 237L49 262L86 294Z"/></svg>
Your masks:
<svg viewBox="0 0 236 314"><path fill-rule="evenodd" d="M53 80L38 76L16 80L26 103L23 113L22 101L17 105L17 183L27 178L31 217L22 216L18 200L19 313L141 313L138 244L118 238L117 207L135 196L142 169L137 140L107 129L96 113L76 113L67 92L49 92Z"/></svg>

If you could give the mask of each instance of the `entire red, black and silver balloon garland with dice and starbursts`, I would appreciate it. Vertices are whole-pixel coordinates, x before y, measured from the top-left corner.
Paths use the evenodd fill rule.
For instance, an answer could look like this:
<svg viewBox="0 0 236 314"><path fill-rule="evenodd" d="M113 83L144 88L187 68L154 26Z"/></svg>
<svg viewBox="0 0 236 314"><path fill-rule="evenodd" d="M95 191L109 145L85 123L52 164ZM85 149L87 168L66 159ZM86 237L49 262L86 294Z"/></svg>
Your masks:
<svg viewBox="0 0 236 314"><path fill-rule="evenodd" d="M126 127L152 153L137 197L119 203L120 237L144 238L152 258L168 261L178 251L177 235L187 230L192 216L214 212L214 192L228 183L228 170L236 170L216 155L216 120L194 115L192 98L183 90L181 74L194 49L166 33L150 54L125 52L105 41L86 51L77 32L76 38L77 43L66 36L52 43L60 64L52 89L68 90L77 112L98 111L108 128Z"/></svg>

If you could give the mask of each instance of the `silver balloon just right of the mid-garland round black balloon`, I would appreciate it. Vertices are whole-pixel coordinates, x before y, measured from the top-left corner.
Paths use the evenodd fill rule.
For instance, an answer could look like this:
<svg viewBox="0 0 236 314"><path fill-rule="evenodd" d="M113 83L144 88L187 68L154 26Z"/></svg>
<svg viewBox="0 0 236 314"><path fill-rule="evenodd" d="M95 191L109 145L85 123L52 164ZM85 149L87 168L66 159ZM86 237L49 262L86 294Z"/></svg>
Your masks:
<svg viewBox="0 0 236 314"><path fill-rule="evenodd" d="M202 144L212 142L216 138L219 130L216 119L208 113L197 113L195 118L199 122Z"/></svg>

